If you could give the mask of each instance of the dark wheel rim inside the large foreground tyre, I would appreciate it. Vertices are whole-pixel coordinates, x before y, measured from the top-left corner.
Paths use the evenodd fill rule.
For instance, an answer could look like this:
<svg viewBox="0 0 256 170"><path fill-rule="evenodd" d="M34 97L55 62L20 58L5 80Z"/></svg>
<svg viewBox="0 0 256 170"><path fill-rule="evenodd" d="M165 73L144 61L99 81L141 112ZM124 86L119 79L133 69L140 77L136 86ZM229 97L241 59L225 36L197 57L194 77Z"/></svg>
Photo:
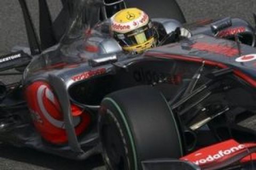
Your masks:
<svg viewBox="0 0 256 170"><path fill-rule="evenodd" d="M122 129L113 115L104 116L104 124L101 126L101 142L103 147L103 159L110 169L129 170L130 161L127 157L126 141Z"/></svg>

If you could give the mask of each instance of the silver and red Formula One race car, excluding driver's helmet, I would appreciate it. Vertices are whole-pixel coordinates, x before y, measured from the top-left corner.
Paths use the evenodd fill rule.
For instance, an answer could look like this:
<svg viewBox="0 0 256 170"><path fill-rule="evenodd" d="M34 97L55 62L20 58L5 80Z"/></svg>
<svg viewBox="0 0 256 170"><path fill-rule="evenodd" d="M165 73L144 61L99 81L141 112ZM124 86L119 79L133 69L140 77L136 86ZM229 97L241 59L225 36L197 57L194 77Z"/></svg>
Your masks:
<svg viewBox="0 0 256 170"><path fill-rule="evenodd" d="M52 23L40 0L39 43L19 2L30 50L0 59L1 71L22 72L21 82L0 86L2 142L79 160L102 153L110 169L253 169L249 23L187 24L177 3L165 0L157 3L169 12L153 10L153 0L62 1ZM129 6L153 17L158 47L125 53L111 37L108 18Z"/></svg>

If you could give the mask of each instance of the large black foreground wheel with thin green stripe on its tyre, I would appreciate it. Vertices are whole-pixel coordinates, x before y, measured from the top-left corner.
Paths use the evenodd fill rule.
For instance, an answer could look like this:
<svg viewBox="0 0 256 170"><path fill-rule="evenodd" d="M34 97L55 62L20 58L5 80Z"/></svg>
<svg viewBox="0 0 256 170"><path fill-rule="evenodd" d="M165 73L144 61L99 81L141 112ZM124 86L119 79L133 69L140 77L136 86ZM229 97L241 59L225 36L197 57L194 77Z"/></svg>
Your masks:
<svg viewBox="0 0 256 170"><path fill-rule="evenodd" d="M109 169L137 170L143 160L182 155L174 115L153 87L125 89L103 99L99 133Z"/></svg>

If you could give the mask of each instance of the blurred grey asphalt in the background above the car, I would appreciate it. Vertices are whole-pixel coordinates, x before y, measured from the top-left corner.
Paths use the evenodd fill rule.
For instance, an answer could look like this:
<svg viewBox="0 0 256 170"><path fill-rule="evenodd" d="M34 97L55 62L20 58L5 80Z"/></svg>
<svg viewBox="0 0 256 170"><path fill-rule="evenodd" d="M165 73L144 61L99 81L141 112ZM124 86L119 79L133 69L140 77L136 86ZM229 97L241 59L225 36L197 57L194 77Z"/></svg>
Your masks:
<svg viewBox="0 0 256 170"><path fill-rule="evenodd" d="M47 2L54 19L60 11L61 3L59 0ZM177 2L188 22L222 16L240 17L253 22L252 12L256 12L255 0L177 0ZM27 0L27 3L38 28L38 1ZM0 54L4 54L14 45L26 46L27 39L18 0L1 0L0 6Z"/></svg>

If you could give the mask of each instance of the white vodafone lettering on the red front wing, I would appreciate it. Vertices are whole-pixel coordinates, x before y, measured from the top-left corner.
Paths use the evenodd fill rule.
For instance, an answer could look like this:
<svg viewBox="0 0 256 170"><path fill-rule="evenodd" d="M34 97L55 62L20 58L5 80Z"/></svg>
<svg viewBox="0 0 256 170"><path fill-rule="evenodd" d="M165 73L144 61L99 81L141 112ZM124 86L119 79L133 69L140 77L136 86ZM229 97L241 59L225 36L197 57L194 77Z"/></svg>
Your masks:
<svg viewBox="0 0 256 170"><path fill-rule="evenodd" d="M219 160L223 157L226 157L228 155L233 154L234 152L237 152L237 151L243 150L243 149L245 149L244 145L238 145L236 147L232 147L232 148L227 149L227 150L219 150L216 154L208 155L207 157L196 160L193 163L196 164L196 165L203 165L203 164L206 164L206 163L211 163L211 162L214 162L215 160ZM202 155L201 153L197 153L195 155L195 157L196 156L201 156L201 155Z"/></svg>

